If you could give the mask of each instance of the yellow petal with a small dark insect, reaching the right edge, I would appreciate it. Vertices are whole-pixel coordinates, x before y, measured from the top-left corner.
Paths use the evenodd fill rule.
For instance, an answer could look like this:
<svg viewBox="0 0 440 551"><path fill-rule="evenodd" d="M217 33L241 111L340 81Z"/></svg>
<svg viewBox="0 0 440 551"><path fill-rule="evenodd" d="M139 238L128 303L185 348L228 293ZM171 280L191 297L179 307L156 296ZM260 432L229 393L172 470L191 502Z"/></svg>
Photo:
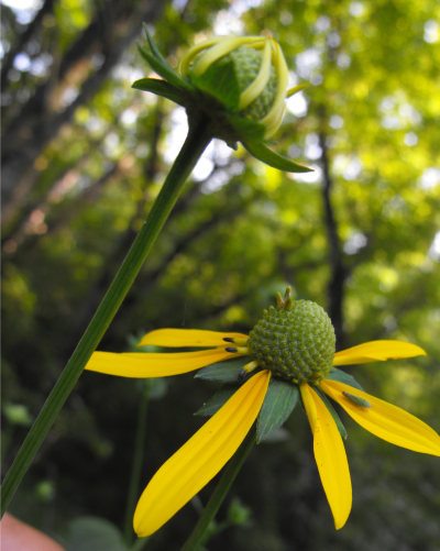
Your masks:
<svg viewBox="0 0 440 551"><path fill-rule="evenodd" d="M415 452L440 455L440 437L428 425L405 410L380 400L370 394L337 381L323 379L319 386L365 430L392 444ZM356 406L342 393L349 393L371 404L366 409Z"/></svg>

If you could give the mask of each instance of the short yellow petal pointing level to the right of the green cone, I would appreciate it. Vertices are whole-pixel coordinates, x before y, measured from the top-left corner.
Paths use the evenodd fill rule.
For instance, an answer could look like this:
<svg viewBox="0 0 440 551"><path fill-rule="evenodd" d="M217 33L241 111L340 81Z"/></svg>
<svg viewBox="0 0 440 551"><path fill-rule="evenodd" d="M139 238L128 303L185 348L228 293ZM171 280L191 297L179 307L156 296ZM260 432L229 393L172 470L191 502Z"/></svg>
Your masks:
<svg viewBox="0 0 440 551"><path fill-rule="evenodd" d="M403 341L372 341L337 352L333 365L365 364L403 357L426 356L425 350Z"/></svg>

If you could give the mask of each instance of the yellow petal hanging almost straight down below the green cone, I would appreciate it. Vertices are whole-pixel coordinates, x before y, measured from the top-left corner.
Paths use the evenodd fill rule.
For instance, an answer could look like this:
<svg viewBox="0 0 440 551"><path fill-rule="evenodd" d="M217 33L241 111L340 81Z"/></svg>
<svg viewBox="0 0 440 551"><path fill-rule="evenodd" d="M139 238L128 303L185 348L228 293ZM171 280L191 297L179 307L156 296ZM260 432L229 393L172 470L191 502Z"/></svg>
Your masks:
<svg viewBox="0 0 440 551"><path fill-rule="evenodd" d="M352 489L345 448L337 423L317 393L307 384L299 386L314 433L314 452L327 499L339 530L349 518Z"/></svg>

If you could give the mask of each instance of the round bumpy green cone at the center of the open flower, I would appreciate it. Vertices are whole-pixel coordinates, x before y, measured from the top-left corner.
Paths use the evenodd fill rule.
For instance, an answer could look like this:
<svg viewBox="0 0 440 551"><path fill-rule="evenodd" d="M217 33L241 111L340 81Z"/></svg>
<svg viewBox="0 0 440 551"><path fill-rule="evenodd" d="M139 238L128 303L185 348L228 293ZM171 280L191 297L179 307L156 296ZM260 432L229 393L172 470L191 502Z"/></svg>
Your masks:
<svg viewBox="0 0 440 551"><path fill-rule="evenodd" d="M250 333L253 360L274 376L317 384L330 371L336 337L326 311L309 300L289 299L265 311Z"/></svg>

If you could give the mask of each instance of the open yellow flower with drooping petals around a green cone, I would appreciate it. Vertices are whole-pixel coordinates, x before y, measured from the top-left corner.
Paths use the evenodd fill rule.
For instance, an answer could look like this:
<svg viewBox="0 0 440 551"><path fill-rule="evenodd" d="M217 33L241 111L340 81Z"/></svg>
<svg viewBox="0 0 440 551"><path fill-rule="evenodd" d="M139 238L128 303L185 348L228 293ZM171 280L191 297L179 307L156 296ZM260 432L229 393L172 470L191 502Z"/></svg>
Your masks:
<svg viewBox="0 0 440 551"><path fill-rule="evenodd" d="M340 404L364 429L383 440L416 452L440 455L440 437L437 432L403 409L360 390L360 386L350 375L336 367L426 355L424 350L415 344L400 341L367 342L334 353L330 359L330 366L333 367L330 368L326 365L321 372L323 373L321 378L318 376L318 371L315 370L311 375L309 373L308 379L302 379L301 375L299 375L299 379L293 379L293 376L298 377L294 370L286 375L285 381L282 381L279 378L279 374L283 375L283 371L279 371L280 363L278 362L276 367L267 364L267 357L272 360L274 356L273 351L267 352L266 350L263 355L256 352L258 331L255 332L255 329L258 326L262 327L263 322L263 329L268 327L274 319L278 322L280 316L284 317L283 319L289 319L289 312L294 308L295 316L293 318L295 320L300 318L301 311L306 311L309 317L312 312L314 320L316 315L321 316L321 321L323 320L323 326L321 321L319 321L320 326L318 323L319 331L326 332L328 330L326 319L322 317L323 310L320 307L304 300L293 302L287 294L286 297L287 300L278 297L278 309L266 312L265 318L255 326L250 335L202 330L162 329L152 331L140 342L140 345L190 346L209 350L178 353L94 353L87 370L124 377L178 375L204 366L211 366L213 363L218 365L218 362L229 359L243 359L241 376L244 375L248 378L245 383L157 471L142 494L134 514L134 530L138 536L145 537L161 528L232 458L258 412L263 411L263 401L266 393L270 394L267 389L271 377L282 382L282 385L287 385L288 388L299 387L314 434L315 459L337 529L342 528L349 517L352 489L345 449L341 438L341 430L344 429L343 427L341 429L337 414L322 393ZM286 334L288 340L296 340L295 346L298 346L302 354L301 357L305 357L305 353L308 354L308 357L311 357L311 364L315 365L316 357L327 357L327 349L326 345L319 345L318 355L314 356L312 346L310 350L301 348L304 343L308 342L307 338L310 337L309 327L305 330L305 338L299 334L305 326L307 323L302 319L300 329L296 328L294 337L288 332L289 330ZM282 327L282 323L278 327ZM333 343L334 352L334 338L331 337L331 331L328 331L328 335L329 341ZM302 338L304 340L301 340ZM319 338L314 335L314 342L316 341L319 341ZM266 343L266 340L264 342ZM282 341L277 342L279 344ZM226 345L227 343L229 344ZM296 353L295 346L292 350ZM248 360L251 361L246 363ZM299 360L300 363L301 360ZM227 362L224 366L230 364L231 362ZM209 368L207 367L207 370Z"/></svg>

